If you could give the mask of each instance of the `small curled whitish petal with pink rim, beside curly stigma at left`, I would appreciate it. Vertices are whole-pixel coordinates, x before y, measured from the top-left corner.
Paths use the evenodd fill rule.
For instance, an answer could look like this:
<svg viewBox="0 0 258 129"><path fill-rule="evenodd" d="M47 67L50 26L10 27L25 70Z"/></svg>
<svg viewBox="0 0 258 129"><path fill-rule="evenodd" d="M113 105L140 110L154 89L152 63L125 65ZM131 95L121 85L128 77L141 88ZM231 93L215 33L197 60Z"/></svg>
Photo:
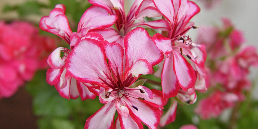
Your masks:
<svg viewBox="0 0 258 129"><path fill-rule="evenodd" d="M47 58L47 63L52 69L60 69L65 65L65 61L61 59L61 51L64 47L58 47Z"/></svg>

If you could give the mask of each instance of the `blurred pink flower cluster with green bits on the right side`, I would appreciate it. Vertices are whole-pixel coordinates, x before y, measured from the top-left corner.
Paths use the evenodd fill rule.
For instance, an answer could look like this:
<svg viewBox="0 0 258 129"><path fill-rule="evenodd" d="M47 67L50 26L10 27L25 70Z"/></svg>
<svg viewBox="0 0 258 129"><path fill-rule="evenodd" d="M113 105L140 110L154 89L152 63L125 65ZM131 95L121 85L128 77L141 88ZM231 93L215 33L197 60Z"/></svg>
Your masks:
<svg viewBox="0 0 258 129"><path fill-rule="evenodd" d="M243 101L243 91L251 88L249 68L258 66L255 47L244 44L243 33L229 19L222 18L222 21L222 28L203 26L205 31L199 30L197 38L198 43L206 45L207 85L212 89L195 110L203 119L217 117L225 108Z"/></svg>

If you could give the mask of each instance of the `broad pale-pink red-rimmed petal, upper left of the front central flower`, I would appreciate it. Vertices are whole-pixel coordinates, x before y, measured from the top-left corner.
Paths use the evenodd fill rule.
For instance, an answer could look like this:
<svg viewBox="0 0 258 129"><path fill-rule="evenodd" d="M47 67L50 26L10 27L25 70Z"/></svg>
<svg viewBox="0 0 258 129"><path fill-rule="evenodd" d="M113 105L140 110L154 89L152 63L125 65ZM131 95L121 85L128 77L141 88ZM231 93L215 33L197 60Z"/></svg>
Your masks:
<svg viewBox="0 0 258 129"><path fill-rule="evenodd" d="M66 60L67 71L80 82L114 87L101 42L83 39Z"/></svg>

